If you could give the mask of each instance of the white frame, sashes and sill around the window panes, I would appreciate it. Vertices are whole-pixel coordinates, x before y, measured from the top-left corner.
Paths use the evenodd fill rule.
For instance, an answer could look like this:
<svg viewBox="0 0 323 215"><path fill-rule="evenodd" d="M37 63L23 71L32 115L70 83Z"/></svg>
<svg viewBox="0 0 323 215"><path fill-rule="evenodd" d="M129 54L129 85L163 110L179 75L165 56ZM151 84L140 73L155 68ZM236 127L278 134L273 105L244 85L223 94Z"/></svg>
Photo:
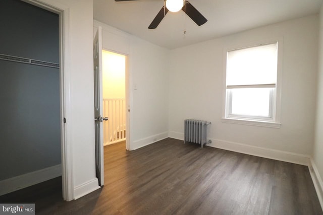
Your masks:
<svg viewBox="0 0 323 215"><path fill-rule="evenodd" d="M227 53L228 51L244 49L249 47L256 47L266 44L277 43L277 82L268 85L241 85L241 86L227 86L226 73L227 73ZM238 48L237 48L238 47ZM262 42L250 43L247 45L236 46L234 48L228 47L224 49L224 109L222 122L234 123L234 124L244 124L244 125L254 125L262 127L274 127L280 128L280 105L281 105L281 82L282 82L282 47L283 39L276 38ZM270 105L269 116L247 116L247 115L237 115L232 114L232 91L230 89L241 89L241 88L273 88L270 93ZM231 102L230 102L231 101Z"/></svg>

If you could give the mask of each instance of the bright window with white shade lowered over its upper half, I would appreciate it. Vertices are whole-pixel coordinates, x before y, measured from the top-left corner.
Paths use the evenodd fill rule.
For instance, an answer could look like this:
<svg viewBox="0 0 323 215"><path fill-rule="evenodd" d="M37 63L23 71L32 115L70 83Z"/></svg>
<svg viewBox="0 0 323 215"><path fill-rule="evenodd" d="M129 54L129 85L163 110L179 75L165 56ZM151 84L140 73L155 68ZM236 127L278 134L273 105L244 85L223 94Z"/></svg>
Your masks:
<svg viewBox="0 0 323 215"><path fill-rule="evenodd" d="M276 122L278 43L227 52L226 119Z"/></svg>

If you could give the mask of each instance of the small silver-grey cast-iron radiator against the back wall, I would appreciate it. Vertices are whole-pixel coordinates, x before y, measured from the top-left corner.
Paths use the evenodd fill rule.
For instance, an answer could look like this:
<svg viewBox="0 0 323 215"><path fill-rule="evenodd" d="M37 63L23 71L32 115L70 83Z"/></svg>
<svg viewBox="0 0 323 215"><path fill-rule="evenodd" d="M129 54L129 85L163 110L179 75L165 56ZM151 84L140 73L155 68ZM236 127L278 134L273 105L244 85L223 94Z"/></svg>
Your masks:
<svg viewBox="0 0 323 215"><path fill-rule="evenodd" d="M200 144L203 148L204 144L210 144L211 140L206 140L206 126L211 122L195 119L184 120L184 144L185 142L193 142Z"/></svg>

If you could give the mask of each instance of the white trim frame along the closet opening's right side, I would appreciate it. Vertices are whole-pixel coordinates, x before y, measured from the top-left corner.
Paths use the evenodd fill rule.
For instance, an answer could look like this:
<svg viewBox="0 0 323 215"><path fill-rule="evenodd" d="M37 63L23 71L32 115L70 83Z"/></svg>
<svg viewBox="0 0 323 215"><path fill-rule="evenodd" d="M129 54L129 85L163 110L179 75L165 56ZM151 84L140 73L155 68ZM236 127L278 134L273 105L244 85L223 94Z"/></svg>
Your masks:
<svg viewBox="0 0 323 215"><path fill-rule="evenodd" d="M69 7L55 0L22 0L28 4L45 9L59 15L60 31L60 113L61 113L61 157L62 157L62 189L63 199L74 199L73 183L73 151L71 137L71 96L70 71L70 11ZM64 118L67 119L66 123Z"/></svg>

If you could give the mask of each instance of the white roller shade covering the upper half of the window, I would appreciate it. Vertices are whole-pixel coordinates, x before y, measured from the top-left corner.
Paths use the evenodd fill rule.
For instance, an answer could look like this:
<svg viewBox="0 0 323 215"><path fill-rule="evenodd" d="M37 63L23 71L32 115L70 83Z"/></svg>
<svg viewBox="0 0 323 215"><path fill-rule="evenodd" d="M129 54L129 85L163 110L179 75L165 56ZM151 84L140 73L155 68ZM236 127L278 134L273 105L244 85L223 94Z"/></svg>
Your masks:
<svg viewBox="0 0 323 215"><path fill-rule="evenodd" d="M277 43L228 51L226 78L228 89L276 87Z"/></svg>

